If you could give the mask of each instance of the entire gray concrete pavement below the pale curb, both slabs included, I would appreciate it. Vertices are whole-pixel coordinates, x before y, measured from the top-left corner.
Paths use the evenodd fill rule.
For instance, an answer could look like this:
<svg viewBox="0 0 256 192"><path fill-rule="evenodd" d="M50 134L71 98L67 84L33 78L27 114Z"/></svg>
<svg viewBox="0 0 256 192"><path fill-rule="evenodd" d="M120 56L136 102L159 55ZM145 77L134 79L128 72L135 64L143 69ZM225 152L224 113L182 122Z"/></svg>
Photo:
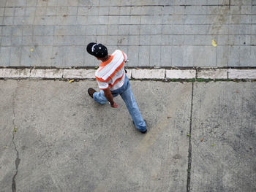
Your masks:
<svg viewBox="0 0 256 192"><path fill-rule="evenodd" d="M146 135L95 81L1 80L0 191L255 191L255 82L131 83Z"/></svg>

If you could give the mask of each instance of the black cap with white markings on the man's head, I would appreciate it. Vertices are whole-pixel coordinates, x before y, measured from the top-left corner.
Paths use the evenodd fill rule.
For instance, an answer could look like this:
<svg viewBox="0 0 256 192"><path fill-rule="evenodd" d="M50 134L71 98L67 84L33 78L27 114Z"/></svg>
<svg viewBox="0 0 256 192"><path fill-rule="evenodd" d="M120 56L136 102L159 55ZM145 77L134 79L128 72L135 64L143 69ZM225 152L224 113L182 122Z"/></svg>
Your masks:
<svg viewBox="0 0 256 192"><path fill-rule="evenodd" d="M104 58L108 55L108 49L104 45L96 42L90 42L86 48L87 52L97 58Z"/></svg>

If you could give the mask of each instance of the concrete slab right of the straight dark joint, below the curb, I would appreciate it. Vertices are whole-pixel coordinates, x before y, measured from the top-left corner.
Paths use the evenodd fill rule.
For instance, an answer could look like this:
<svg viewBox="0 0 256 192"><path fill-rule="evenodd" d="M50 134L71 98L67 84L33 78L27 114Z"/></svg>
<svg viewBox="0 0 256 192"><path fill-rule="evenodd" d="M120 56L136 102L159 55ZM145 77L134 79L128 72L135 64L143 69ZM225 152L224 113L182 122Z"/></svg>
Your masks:
<svg viewBox="0 0 256 192"><path fill-rule="evenodd" d="M255 82L197 83L194 93L190 191L256 191Z"/></svg>

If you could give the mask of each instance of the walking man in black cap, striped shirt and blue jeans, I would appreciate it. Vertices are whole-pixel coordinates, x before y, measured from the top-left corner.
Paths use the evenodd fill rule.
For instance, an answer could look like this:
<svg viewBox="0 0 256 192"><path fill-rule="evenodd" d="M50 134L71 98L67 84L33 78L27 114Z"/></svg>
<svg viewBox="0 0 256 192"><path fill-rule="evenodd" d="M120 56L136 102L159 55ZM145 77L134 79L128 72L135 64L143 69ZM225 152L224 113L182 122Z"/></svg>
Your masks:
<svg viewBox="0 0 256 192"><path fill-rule="evenodd" d="M96 42L89 43L86 50L102 62L95 72L100 91L97 92L93 88L89 88L89 96L99 104L105 104L109 101L111 107L117 108L118 105L113 101L113 98L120 95L127 106L135 127L145 134L147 131L146 122L140 114L124 69L124 63L127 62L127 54L121 50L116 50L111 55L108 55L107 47Z"/></svg>

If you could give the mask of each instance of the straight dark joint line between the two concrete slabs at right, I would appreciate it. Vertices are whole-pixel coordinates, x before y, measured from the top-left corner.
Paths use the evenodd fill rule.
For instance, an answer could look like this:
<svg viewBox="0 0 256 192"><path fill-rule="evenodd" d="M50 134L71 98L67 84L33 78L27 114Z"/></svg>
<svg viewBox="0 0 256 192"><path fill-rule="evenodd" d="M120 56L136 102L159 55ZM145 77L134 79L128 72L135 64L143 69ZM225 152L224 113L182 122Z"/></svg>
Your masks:
<svg viewBox="0 0 256 192"><path fill-rule="evenodd" d="M190 191L190 172L192 163L192 145L191 145L191 133L192 133L192 112L193 112L193 95L194 95L194 82L192 82L192 94L191 94L191 109L190 109L190 122L189 122L189 155L187 165L187 192Z"/></svg>

